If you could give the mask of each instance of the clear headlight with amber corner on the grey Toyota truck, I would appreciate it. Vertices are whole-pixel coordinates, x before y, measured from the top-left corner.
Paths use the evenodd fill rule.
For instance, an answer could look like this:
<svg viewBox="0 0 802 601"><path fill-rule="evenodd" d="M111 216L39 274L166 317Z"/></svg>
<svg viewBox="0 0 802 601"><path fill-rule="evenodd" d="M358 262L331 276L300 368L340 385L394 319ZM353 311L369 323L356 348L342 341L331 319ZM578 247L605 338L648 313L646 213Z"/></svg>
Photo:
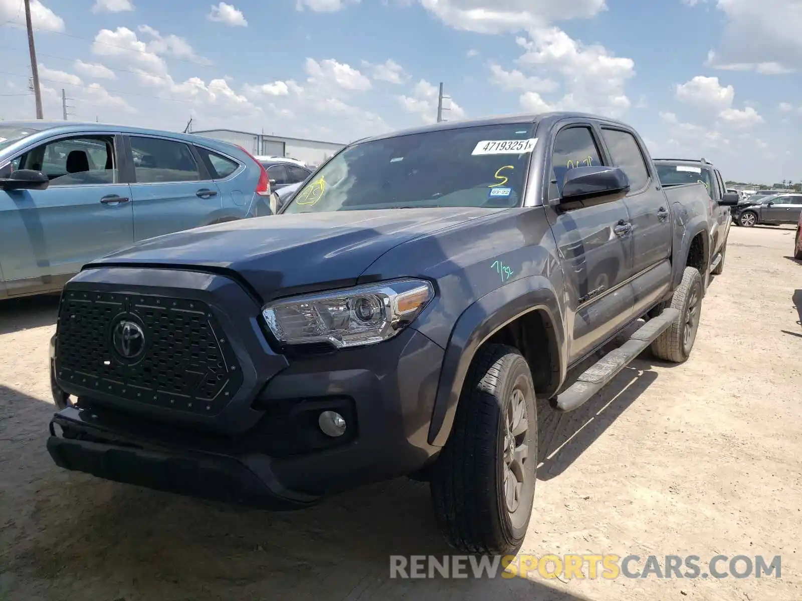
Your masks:
<svg viewBox="0 0 802 601"><path fill-rule="evenodd" d="M394 337L434 296L426 280L392 280L291 296L268 303L261 314L279 342L328 342L342 349Z"/></svg>

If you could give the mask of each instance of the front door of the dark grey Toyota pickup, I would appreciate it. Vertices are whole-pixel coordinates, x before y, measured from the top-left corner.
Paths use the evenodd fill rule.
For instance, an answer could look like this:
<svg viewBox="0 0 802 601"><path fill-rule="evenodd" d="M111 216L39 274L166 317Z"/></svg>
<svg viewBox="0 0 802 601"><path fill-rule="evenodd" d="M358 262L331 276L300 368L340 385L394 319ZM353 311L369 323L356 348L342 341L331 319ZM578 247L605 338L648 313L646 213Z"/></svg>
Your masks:
<svg viewBox="0 0 802 601"><path fill-rule="evenodd" d="M559 200L565 174L574 167L602 161L600 144L586 123L572 123L554 137L551 152L549 204ZM632 263L631 236L619 224L629 221L623 200L588 204L568 211L549 209L565 288L572 306L570 361L593 349L630 319L632 291L626 285Z"/></svg>

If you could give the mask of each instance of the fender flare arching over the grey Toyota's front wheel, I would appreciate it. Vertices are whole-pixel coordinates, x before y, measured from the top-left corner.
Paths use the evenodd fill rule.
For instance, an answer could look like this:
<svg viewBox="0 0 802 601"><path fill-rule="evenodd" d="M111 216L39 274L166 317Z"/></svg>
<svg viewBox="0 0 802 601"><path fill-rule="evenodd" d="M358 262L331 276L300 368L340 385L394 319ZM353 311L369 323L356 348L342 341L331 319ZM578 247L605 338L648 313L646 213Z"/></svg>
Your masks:
<svg viewBox="0 0 802 601"><path fill-rule="evenodd" d="M444 446L451 434L456 406L476 349L505 325L532 311L545 312L550 321L551 350L559 362L560 381L565 379L565 329L551 282L545 276L527 276L504 284L465 309L452 329L429 422L429 444Z"/></svg>

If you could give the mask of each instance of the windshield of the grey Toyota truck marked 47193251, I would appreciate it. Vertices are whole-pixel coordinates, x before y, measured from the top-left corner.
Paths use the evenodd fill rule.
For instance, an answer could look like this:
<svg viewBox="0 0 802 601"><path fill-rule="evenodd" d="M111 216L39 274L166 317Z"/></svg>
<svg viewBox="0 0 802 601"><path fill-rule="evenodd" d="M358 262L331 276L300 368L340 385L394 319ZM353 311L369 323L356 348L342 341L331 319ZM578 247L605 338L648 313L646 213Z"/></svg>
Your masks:
<svg viewBox="0 0 802 601"><path fill-rule="evenodd" d="M284 212L516 207L534 129L483 125L354 144L310 178Z"/></svg>

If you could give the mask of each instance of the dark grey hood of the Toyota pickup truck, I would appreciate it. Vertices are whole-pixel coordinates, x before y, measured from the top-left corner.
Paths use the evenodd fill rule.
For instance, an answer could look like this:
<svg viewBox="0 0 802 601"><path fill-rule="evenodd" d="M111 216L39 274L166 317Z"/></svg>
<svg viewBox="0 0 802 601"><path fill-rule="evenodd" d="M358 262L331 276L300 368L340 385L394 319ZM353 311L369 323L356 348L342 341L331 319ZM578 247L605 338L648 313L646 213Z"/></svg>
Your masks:
<svg viewBox="0 0 802 601"><path fill-rule="evenodd" d="M233 270L267 301L354 284L398 244L503 210L396 208L257 217L143 240L86 268L123 264Z"/></svg>

